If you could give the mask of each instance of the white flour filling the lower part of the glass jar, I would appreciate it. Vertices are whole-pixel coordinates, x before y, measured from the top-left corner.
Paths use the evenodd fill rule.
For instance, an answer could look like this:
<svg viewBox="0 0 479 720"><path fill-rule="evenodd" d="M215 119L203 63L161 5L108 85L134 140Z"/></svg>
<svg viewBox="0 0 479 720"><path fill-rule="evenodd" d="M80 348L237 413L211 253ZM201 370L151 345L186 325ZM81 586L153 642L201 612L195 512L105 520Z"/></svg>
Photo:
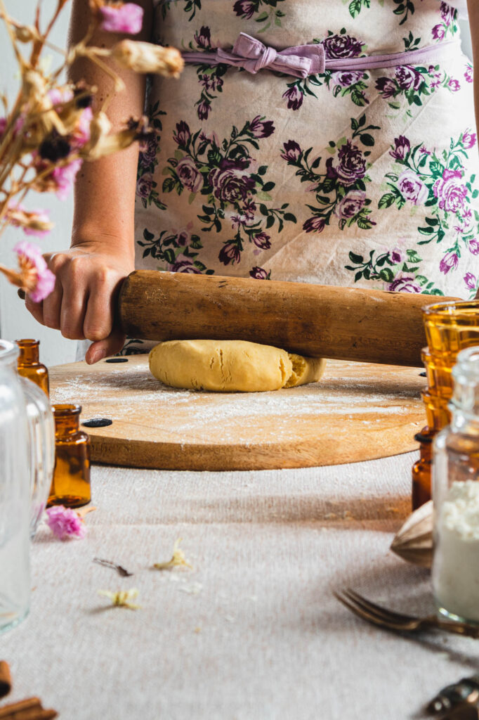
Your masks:
<svg viewBox="0 0 479 720"><path fill-rule="evenodd" d="M435 528L433 583L439 608L479 622L479 482L454 482Z"/></svg>

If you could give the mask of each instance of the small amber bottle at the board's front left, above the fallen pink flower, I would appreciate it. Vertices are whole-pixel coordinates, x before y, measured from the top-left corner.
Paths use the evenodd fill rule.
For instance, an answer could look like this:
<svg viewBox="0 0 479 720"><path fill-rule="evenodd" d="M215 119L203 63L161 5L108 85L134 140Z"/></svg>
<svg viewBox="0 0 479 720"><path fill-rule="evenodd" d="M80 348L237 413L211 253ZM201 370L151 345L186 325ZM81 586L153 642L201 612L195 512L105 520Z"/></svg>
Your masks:
<svg viewBox="0 0 479 720"><path fill-rule="evenodd" d="M47 506L79 508L91 500L90 439L80 430L80 405L52 405L55 470Z"/></svg>

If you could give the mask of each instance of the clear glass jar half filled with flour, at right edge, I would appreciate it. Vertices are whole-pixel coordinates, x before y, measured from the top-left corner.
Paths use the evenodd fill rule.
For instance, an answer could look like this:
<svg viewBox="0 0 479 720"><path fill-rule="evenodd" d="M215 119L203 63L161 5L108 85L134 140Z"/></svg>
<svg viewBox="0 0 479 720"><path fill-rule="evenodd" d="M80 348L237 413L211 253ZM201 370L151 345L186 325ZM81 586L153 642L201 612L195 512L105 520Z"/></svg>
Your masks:
<svg viewBox="0 0 479 720"><path fill-rule="evenodd" d="M479 624L479 347L452 369L451 423L434 438L432 585L439 613Z"/></svg>

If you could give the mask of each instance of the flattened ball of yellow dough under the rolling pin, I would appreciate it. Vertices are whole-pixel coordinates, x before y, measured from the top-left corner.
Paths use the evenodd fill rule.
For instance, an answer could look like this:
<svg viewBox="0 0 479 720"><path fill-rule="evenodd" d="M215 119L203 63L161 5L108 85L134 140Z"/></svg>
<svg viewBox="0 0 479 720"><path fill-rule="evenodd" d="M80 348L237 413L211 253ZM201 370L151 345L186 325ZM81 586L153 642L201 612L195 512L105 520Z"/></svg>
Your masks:
<svg viewBox="0 0 479 720"><path fill-rule="evenodd" d="M150 371L186 390L261 392L316 382L325 361L242 340L169 340L150 351Z"/></svg>

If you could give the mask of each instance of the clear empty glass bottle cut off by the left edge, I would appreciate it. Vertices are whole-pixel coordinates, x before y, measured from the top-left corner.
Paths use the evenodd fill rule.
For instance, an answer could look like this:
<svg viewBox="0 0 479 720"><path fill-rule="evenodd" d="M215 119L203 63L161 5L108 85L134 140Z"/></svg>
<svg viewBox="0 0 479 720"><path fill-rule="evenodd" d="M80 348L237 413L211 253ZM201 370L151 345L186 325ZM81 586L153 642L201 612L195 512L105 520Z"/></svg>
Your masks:
<svg viewBox="0 0 479 720"><path fill-rule="evenodd" d="M0 341L0 632L30 603L30 475L27 408L17 374L19 349Z"/></svg>

